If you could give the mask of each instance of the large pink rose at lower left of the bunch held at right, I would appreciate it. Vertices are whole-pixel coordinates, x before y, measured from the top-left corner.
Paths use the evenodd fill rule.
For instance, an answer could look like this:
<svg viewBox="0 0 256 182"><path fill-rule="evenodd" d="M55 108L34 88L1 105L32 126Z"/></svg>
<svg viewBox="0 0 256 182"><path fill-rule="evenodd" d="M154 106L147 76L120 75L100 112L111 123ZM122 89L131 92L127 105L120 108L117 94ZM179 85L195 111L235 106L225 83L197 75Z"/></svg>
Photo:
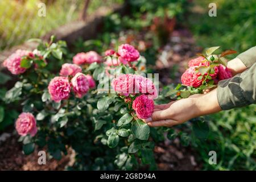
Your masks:
<svg viewBox="0 0 256 182"><path fill-rule="evenodd" d="M196 73L195 71L195 67L190 67L183 73L181 76L181 82L183 85L197 88L202 84L203 80L197 79L199 76L201 76L201 74L199 72Z"/></svg>

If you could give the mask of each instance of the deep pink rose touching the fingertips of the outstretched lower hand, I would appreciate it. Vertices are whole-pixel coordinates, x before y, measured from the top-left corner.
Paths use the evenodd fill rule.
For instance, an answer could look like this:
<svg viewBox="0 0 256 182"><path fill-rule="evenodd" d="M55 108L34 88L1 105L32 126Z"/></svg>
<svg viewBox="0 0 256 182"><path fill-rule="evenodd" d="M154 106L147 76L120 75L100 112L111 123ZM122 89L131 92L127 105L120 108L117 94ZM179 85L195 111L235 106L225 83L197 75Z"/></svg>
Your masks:
<svg viewBox="0 0 256 182"><path fill-rule="evenodd" d="M149 118L154 111L154 101L149 100L148 96L142 94L133 101L133 109L139 119Z"/></svg>

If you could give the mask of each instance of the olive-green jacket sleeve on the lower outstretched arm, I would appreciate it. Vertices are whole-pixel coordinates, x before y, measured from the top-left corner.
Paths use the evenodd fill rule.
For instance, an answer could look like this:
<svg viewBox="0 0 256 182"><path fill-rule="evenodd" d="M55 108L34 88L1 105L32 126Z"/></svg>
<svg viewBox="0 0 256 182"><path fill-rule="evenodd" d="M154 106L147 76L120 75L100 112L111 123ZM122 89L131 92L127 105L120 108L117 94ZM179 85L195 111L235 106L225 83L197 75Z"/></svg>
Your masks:
<svg viewBox="0 0 256 182"><path fill-rule="evenodd" d="M246 71L218 82L218 104L222 110L256 103L256 63Z"/></svg>

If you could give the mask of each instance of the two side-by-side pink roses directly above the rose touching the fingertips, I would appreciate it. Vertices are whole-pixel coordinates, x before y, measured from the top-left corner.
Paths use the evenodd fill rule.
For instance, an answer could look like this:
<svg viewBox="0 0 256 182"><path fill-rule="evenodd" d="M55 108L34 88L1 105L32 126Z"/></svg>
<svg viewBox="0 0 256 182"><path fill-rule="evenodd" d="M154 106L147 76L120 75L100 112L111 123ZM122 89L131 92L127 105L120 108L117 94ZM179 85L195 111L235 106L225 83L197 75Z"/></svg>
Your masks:
<svg viewBox="0 0 256 182"><path fill-rule="evenodd" d="M158 97L158 92L154 83L143 76L125 74L114 78L112 81L112 87L115 92L122 94L123 96L129 96L129 94L143 93L148 94L148 97L155 99Z"/></svg>

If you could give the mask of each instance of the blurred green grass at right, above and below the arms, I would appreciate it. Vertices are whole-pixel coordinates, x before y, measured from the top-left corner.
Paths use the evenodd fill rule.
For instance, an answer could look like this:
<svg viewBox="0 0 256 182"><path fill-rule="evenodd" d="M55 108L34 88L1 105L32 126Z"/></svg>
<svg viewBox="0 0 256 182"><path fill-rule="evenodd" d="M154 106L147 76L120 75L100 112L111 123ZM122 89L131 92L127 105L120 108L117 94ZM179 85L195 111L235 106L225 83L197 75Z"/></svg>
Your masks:
<svg viewBox="0 0 256 182"><path fill-rule="evenodd" d="M217 4L217 17L208 16L211 2ZM256 45L256 1L196 0L194 5L187 23L199 46L221 46L241 53ZM195 145L203 168L255 170L256 106L221 111L210 117L209 138ZM216 165L208 163L209 151L217 152Z"/></svg>

